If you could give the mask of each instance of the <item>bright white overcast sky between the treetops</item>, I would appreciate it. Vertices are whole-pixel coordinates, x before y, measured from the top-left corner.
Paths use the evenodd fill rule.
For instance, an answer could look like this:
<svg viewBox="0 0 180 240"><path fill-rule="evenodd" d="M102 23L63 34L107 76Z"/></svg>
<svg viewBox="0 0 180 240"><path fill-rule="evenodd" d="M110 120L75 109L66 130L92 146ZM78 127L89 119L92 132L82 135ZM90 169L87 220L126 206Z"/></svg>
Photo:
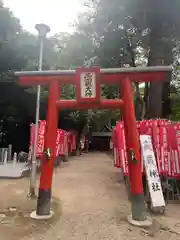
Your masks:
<svg viewBox="0 0 180 240"><path fill-rule="evenodd" d="M69 23L82 11L82 0L4 0L23 27L35 33L36 23L46 23L51 33L71 31Z"/></svg>

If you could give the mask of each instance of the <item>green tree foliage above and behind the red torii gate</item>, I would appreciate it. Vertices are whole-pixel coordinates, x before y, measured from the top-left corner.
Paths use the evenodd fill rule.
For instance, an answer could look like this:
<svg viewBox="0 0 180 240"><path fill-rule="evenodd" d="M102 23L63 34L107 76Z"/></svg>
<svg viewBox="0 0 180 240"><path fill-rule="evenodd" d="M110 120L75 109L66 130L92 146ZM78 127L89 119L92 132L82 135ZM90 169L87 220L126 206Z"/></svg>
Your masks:
<svg viewBox="0 0 180 240"><path fill-rule="evenodd" d="M74 33L58 33L45 41L44 69L75 69L79 66L100 65L103 68L156 65L172 62L174 49L175 69L174 83L179 101L179 29L180 1L174 0L88 0L86 11L79 15L74 24ZM36 70L38 67L38 39L24 31L9 9L0 2L0 84L15 82L12 71ZM14 108L26 109L32 114L35 105L36 88L19 92L20 87L12 85L6 98L0 88L0 102L10 108L0 110L1 116L15 116ZM15 87L16 86L16 87ZM138 92L139 91L139 92ZM118 86L102 86L103 98L119 98ZM135 101L142 101L145 96L136 85ZM12 101L11 96L16 96ZM140 96L140 97L139 97ZM158 96L149 92L148 101ZM42 115L48 97L48 89L42 87ZM61 87L62 99L74 99L75 88L72 85ZM27 101L27 99L31 99ZM150 99L150 100L149 100ZM18 104L17 104L18 103ZM156 104L157 105L157 104ZM177 104L176 104L177 105ZM16 106L16 107L15 107ZM156 108L156 106L154 106ZM173 111L179 118L179 109L174 105ZM6 113L5 113L6 112ZM16 114L16 117L18 118ZM101 128L101 125L119 119L119 110L72 111L68 115L81 129L85 125ZM11 119L11 118L10 118Z"/></svg>

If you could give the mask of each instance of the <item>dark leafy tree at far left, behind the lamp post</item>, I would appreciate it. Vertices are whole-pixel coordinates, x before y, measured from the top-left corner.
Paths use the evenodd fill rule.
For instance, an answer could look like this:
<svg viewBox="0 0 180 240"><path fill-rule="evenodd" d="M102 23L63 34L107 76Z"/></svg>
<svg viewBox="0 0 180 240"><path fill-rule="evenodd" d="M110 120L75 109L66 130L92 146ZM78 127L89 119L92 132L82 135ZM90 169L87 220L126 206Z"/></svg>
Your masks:
<svg viewBox="0 0 180 240"><path fill-rule="evenodd" d="M25 148L24 150L28 150L29 139L28 137L25 139L26 132L22 128L24 134L20 137L22 131L18 126L22 126L23 122L26 122L28 136L28 121L31 121L30 119L34 115L33 108L35 106L35 97L32 94L25 93L16 84L13 74L14 70L23 69L27 65L27 59L22 54L22 42L25 45L27 41L27 38L22 40L24 34L26 33L23 31L19 20L0 2L0 120L3 123L1 131L6 133L5 147L13 141L14 151L21 150L19 149L20 146ZM12 132L19 136L19 146L17 145L17 148L15 146L17 139L12 139ZM2 147L2 141L0 144Z"/></svg>

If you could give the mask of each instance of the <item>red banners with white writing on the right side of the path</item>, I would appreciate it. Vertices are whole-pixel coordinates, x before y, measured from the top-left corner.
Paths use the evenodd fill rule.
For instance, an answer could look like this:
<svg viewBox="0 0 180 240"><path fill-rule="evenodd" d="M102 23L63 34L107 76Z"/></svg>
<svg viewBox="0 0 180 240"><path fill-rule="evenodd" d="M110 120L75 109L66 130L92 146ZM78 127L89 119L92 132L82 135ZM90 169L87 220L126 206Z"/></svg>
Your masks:
<svg viewBox="0 0 180 240"><path fill-rule="evenodd" d="M139 135L150 135L159 175L180 178L180 123L166 119L137 122ZM128 160L124 135L124 124L118 122L113 129L114 166L128 175ZM141 160L144 172L143 160Z"/></svg>

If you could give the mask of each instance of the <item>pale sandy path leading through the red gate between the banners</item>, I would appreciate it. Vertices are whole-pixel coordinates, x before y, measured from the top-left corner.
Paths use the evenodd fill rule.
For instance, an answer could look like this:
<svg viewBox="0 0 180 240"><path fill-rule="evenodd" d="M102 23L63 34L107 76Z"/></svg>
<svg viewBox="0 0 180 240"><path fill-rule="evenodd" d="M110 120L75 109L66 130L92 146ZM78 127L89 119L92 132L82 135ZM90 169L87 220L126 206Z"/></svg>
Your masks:
<svg viewBox="0 0 180 240"><path fill-rule="evenodd" d="M22 188L27 184L27 180L21 180ZM180 239L178 231L170 230L168 223L162 224L163 218L161 223L155 219L149 230L134 228L126 222L130 210L124 184L119 172L113 168L112 159L104 153L74 157L56 169L53 196L60 199L60 218L49 223L48 227L33 223L35 228L29 228L26 236L19 235L18 240ZM0 239L15 240L12 234L12 238L4 236Z"/></svg>

